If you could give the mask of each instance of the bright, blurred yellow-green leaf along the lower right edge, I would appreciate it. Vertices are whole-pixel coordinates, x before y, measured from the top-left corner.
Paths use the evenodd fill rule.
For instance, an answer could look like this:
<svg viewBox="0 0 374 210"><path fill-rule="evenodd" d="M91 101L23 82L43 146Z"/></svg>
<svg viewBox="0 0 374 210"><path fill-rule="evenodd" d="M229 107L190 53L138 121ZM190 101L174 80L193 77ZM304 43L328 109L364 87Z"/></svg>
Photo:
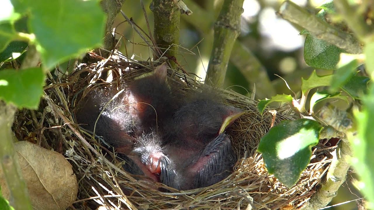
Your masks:
<svg viewBox="0 0 374 210"><path fill-rule="evenodd" d="M361 112L354 112L357 121L357 135L350 135L353 150L352 166L360 176L358 184L369 201L368 209L374 209L374 86L371 93L362 99Z"/></svg>

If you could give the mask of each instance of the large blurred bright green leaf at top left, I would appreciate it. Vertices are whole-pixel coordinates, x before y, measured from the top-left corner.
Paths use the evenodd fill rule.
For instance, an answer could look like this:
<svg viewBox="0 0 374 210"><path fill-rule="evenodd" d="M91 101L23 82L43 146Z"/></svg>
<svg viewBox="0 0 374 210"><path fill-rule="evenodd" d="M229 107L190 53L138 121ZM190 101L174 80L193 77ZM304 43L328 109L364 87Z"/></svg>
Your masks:
<svg viewBox="0 0 374 210"><path fill-rule="evenodd" d="M36 36L37 50L47 69L102 44L105 16L97 0L13 0L12 3L19 13L31 11L29 30Z"/></svg>

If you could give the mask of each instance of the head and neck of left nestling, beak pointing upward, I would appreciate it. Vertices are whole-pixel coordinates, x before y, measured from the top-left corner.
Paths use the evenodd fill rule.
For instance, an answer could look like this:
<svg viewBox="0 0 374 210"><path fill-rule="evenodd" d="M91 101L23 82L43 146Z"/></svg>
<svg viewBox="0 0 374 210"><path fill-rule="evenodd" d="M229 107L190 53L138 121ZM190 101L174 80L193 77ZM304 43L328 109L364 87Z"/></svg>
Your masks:
<svg viewBox="0 0 374 210"><path fill-rule="evenodd" d="M151 73L135 78L127 88L123 104L128 104L135 135L140 136L151 132L151 129L162 128L177 106L167 81L166 63L156 67Z"/></svg>

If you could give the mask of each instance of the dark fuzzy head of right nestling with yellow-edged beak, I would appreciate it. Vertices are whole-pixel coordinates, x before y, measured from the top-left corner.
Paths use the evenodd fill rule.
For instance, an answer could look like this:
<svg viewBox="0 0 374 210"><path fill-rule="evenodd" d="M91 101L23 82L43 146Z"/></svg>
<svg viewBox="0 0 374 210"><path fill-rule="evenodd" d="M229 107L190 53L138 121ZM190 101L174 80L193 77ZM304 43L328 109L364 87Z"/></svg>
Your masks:
<svg viewBox="0 0 374 210"><path fill-rule="evenodd" d="M178 145L206 144L232 125L244 112L240 108L224 105L215 95L197 93L181 105L166 127L165 141Z"/></svg>

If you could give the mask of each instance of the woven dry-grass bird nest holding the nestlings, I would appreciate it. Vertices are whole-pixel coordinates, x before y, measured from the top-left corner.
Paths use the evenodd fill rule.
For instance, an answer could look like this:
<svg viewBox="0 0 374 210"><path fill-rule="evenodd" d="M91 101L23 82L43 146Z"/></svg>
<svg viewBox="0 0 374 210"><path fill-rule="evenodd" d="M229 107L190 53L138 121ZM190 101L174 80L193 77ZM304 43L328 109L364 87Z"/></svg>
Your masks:
<svg viewBox="0 0 374 210"><path fill-rule="evenodd" d="M70 161L79 184L77 201L71 209L99 206L106 209L294 209L310 199L327 172L330 153L335 148L321 140L312 148L310 164L291 189L269 175L261 154L256 151L258 142L272 124L292 120L294 115L286 108L260 115L255 101L232 90L222 90L225 103L245 111L227 130L238 157L232 175L212 186L188 191L136 179L122 170L121 160L113 152L80 129L72 113L83 90L99 80L100 74L110 70L114 78L120 75L125 81L131 81L162 62L133 61L120 53L114 53L110 59L95 53L88 55L91 64L76 65L71 74L61 76L58 70L55 74L60 74L59 77L49 74L40 108L19 111L13 125L18 139L53 149ZM183 87L181 91L196 91L204 85L178 70L169 69L168 76ZM162 192L157 190L159 187L168 190Z"/></svg>

